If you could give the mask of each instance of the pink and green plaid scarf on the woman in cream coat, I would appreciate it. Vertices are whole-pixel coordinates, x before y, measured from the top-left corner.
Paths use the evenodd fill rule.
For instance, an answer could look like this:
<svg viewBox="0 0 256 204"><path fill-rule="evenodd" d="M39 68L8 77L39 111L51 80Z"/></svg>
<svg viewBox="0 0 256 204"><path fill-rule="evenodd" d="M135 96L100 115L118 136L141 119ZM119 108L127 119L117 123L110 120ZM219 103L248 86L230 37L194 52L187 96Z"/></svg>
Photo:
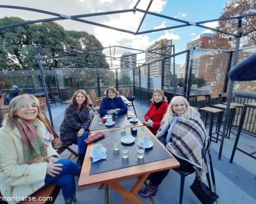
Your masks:
<svg viewBox="0 0 256 204"><path fill-rule="evenodd" d="M17 129L22 135L25 163L46 162L47 146L36 130L37 120L32 125L20 118L17 120Z"/></svg>

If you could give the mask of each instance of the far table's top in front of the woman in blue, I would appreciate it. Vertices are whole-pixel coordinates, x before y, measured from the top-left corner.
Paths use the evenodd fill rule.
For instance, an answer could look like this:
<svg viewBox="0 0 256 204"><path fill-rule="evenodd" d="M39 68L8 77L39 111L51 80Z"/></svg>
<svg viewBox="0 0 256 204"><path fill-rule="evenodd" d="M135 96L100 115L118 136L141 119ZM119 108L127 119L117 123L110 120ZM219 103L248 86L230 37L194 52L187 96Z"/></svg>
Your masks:
<svg viewBox="0 0 256 204"><path fill-rule="evenodd" d="M133 114L135 115L132 111L128 111L127 114ZM115 124L113 126L105 126L105 123L102 122L103 116L97 114L94 115L92 125L90 127L91 131L95 130L105 130L105 129L113 129L116 127L121 127L122 125L124 126L142 126L143 123L138 119L137 123L132 123L127 119L127 114L120 114L120 115L113 115L113 121L115 121ZM99 125L99 123L102 123Z"/></svg>

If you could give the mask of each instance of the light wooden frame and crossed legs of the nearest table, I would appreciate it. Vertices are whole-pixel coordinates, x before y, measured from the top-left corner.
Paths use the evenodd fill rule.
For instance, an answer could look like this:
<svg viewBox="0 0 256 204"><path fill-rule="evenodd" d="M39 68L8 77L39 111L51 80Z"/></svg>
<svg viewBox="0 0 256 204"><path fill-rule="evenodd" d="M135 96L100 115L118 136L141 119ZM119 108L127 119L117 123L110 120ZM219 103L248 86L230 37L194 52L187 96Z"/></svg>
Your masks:
<svg viewBox="0 0 256 204"><path fill-rule="evenodd" d="M105 130L105 132L110 132L111 130ZM162 143L160 143L156 137L147 129L148 135L152 135L153 138L161 144L162 150L167 151L170 156L170 152L164 147ZM94 134L95 132L92 132ZM110 136L111 137L111 136ZM109 138L106 138L109 139ZM160 147L160 148L161 148ZM137 191L141 188L144 181L152 172L172 169L179 167L179 162L174 158L165 159L161 161L144 163L141 165L136 165L127 168L121 168L117 170L107 171L103 173L97 173L90 175L90 169L92 164L92 159L90 158L90 151L93 148L93 144L89 144L87 147L86 157L84 158L84 162L82 165L81 174L79 177L78 186L86 187L95 184L101 184L101 188L103 185L105 186L105 202L108 203L108 186L112 187L115 191L121 194L124 197L124 200L121 203L128 203L129 201L133 203L143 203L138 197L135 196ZM152 149L154 151L154 147ZM110 150L109 150L110 151ZM119 150L120 151L120 150ZM108 149L107 149L108 154ZM120 158L121 159L121 158ZM123 186L121 186L117 181L122 179L127 179L131 177L137 177L138 180L135 182L134 186L131 190L126 190Z"/></svg>

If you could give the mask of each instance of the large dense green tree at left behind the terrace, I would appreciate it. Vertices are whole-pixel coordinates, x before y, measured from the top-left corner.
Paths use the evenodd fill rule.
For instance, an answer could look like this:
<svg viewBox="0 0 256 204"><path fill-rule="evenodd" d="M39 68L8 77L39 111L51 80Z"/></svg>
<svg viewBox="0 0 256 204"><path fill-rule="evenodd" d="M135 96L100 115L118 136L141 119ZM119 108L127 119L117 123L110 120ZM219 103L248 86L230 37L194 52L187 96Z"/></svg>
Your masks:
<svg viewBox="0 0 256 204"><path fill-rule="evenodd" d="M23 19L17 17L5 17L0 19L0 26L23 21ZM35 44L82 51L99 48L93 54L104 56L102 54L103 47L95 36L86 32L65 31L61 25L55 22L44 22L0 31L0 70L38 69ZM45 52L40 52L40 55L41 57L50 57L66 53L62 50L45 48ZM66 57L66 59L81 61L80 64L96 63L96 68L109 68L105 57L77 54ZM42 65L48 69L49 67L66 67L76 63L67 60L42 61Z"/></svg>

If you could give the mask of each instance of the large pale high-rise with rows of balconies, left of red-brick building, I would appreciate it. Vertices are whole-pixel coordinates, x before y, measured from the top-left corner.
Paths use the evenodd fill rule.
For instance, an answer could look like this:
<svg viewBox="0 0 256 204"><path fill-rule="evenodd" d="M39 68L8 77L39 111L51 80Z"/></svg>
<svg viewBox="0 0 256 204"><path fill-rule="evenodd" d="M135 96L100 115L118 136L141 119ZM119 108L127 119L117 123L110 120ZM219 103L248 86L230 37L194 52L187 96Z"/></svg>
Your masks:
<svg viewBox="0 0 256 204"><path fill-rule="evenodd" d="M153 45L146 48L146 60L145 63L152 63L150 65L150 77L161 77L162 75L162 63L164 63L164 73L168 73L167 71L170 70L170 58L163 61L157 61L158 59L163 58L163 55L155 54L165 54L165 55L171 55L172 54L172 40L168 39L161 39L159 41L156 41ZM148 51L152 50L152 52L155 53L148 53ZM147 73L147 72L146 72ZM166 76L166 74L164 74ZM166 79L168 80L168 79ZM164 81L166 81L164 80Z"/></svg>

